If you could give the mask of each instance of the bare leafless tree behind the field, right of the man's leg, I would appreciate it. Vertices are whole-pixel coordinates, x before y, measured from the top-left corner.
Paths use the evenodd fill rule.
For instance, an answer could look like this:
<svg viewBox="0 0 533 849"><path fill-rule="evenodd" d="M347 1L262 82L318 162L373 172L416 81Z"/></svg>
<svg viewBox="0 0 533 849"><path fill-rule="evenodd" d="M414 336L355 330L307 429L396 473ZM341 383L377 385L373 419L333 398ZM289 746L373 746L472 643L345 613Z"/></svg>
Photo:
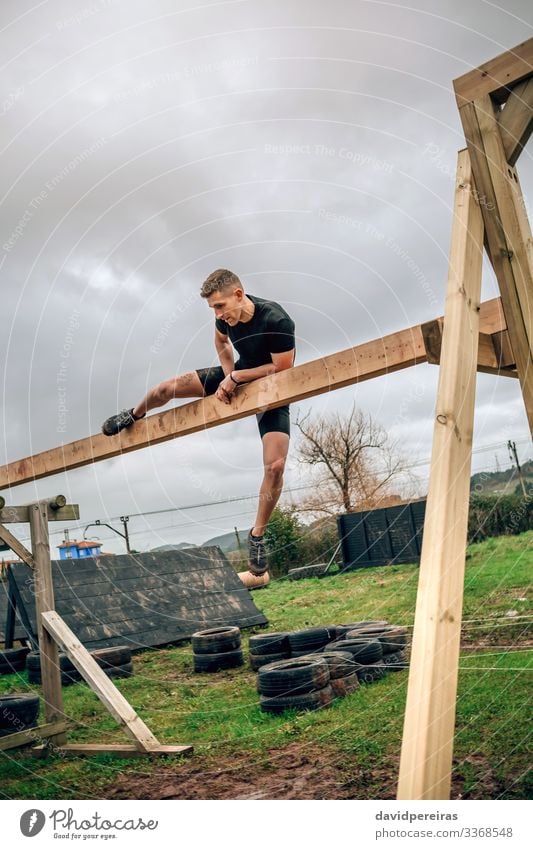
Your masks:
<svg viewBox="0 0 533 849"><path fill-rule="evenodd" d="M409 462L370 414L354 404L347 416L308 413L295 424L301 434L299 460L318 473L313 494L298 505L299 511L350 513L393 500L393 487L399 486Z"/></svg>

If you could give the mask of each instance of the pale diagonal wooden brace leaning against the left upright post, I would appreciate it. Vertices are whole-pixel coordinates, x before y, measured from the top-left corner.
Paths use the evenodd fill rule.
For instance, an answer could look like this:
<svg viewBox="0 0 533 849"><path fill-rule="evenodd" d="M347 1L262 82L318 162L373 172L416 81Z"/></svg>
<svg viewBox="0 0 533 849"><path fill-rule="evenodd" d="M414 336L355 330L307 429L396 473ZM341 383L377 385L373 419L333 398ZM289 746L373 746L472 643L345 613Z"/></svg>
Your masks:
<svg viewBox="0 0 533 849"><path fill-rule="evenodd" d="M157 748L157 738L55 610L43 613L41 618L50 636L61 645L91 690L132 738L136 747L143 752Z"/></svg>

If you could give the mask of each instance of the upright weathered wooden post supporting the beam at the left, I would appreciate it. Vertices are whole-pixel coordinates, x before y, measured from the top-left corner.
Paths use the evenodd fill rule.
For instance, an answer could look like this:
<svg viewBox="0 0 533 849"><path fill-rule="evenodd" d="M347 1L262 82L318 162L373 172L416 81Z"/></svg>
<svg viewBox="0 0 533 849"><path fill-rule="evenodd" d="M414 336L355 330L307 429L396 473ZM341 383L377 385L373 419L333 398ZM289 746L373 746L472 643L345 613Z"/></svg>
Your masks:
<svg viewBox="0 0 533 849"><path fill-rule="evenodd" d="M44 696L44 712L47 722L58 722L65 718L63 694L61 691L61 671L59 652L50 634L43 627L42 614L54 608L54 585L52 583L52 564L50 561L50 540L48 536L48 511L43 502L28 507L31 548L35 568L34 593L37 619L37 634L41 652L41 679ZM54 737L56 745L67 742L66 734Z"/></svg>

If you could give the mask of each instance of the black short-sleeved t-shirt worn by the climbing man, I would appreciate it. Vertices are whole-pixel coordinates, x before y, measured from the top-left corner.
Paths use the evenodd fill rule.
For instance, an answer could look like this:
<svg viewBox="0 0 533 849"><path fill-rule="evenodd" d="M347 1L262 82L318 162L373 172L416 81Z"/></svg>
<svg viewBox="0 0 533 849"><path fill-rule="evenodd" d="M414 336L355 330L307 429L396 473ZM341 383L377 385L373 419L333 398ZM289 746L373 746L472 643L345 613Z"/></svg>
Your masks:
<svg viewBox="0 0 533 849"><path fill-rule="evenodd" d="M271 354L282 354L295 347L294 321L275 301L265 301L248 295L255 311L247 322L230 327L221 318L215 319L217 330L229 336L239 354L238 369L257 368L272 362Z"/></svg>

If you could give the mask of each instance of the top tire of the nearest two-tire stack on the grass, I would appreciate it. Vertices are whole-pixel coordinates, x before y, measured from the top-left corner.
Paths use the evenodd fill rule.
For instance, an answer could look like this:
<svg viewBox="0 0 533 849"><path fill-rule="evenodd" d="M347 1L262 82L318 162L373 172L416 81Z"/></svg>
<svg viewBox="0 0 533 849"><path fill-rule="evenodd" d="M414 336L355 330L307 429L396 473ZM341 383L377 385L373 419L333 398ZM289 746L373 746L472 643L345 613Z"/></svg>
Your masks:
<svg viewBox="0 0 533 849"><path fill-rule="evenodd" d="M309 693L328 683L329 669L322 657L278 660L257 673L258 692L267 697Z"/></svg>

